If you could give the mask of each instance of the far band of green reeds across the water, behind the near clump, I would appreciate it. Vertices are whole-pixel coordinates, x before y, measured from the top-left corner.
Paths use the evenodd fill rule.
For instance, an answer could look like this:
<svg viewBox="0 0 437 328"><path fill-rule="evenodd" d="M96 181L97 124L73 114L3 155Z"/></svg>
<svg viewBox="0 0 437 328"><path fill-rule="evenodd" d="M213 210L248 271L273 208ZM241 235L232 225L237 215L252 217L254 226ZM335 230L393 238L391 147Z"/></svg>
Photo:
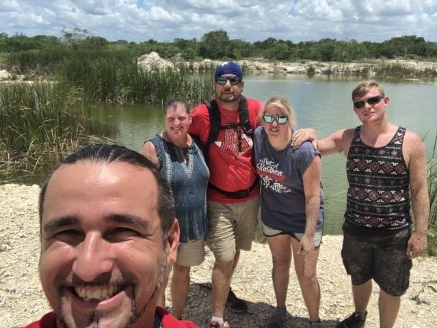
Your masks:
<svg viewBox="0 0 437 328"><path fill-rule="evenodd" d="M138 54L123 50L69 50L65 47L8 55L15 74L39 75L74 87L85 102L159 104L170 98L195 103L213 96L212 76L184 71L144 71Z"/></svg>

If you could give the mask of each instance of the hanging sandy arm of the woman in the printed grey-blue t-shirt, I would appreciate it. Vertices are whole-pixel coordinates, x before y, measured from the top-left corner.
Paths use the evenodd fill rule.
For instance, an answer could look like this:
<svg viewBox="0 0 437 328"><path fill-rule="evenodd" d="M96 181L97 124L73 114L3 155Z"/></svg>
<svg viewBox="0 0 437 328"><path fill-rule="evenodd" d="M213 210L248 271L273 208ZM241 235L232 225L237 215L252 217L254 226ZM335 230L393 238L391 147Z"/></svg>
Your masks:
<svg viewBox="0 0 437 328"><path fill-rule="evenodd" d="M305 233L302 241L300 241L299 250L299 253L302 253L302 255L314 249L314 233L320 208L320 172L321 159L319 156L315 156L302 176L304 180L306 211Z"/></svg>

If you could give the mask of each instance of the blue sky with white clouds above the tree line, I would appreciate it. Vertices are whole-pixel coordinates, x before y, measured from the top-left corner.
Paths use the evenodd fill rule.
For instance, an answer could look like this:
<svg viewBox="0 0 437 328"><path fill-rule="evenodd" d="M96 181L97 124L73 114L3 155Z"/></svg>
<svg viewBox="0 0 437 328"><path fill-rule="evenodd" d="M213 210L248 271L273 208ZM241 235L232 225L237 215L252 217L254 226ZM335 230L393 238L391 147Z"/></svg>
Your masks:
<svg viewBox="0 0 437 328"><path fill-rule="evenodd" d="M437 0L3 0L0 32L61 36L87 29L107 40L202 38L224 29L231 39L300 42L376 41L423 36L437 41Z"/></svg>

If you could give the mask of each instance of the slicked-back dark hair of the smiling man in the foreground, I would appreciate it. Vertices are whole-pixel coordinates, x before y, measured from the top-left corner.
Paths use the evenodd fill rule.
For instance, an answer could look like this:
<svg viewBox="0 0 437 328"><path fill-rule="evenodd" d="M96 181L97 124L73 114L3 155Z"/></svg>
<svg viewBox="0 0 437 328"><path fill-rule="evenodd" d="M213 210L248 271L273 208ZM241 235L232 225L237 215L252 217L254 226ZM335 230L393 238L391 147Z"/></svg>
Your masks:
<svg viewBox="0 0 437 328"><path fill-rule="evenodd" d="M144 167L152 172L155 176L155 180L158 186L158 215L161 219L161 230L163 234L163 240L167 237L170 228L174 222L175 212L174 212L174 199L172 191L168 182L159 176L159 173L155 165L149 161L142 154L135 152L129 148L118 146L118 145L103 145L95 144L92 146L87 146L81 148L81 150L70 154L62 163L60 163L54 170L47 176L44 181L40 191L39 199L39 214L40 214L40 229L42 227L42 210L44 207L44 198L47 191L47 185L49 184L50 178L56 170L62 165L75 164L79 161L91 161L95 163L111 163L111 162L122 162L129 163L131 165L136 165ZM147 188L147 186L144 186Z"/></svg>

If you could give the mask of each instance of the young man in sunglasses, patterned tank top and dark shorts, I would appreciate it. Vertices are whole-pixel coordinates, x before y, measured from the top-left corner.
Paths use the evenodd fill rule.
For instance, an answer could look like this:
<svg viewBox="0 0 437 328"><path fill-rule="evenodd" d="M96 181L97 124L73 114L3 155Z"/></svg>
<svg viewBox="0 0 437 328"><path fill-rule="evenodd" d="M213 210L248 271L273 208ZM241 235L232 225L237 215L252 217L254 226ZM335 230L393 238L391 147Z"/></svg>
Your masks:
<svg viewBox="0 0 437 328"><path fill-rule="evenodd" d="M347 155L347 208L341 256L352 279L355 311L336 327L364 327L372 279L380 286L380 327L395 325L409 285L412 258L426 249L429 199L419 135L388 121L389 98L375 82L352 92L362 122L317 140L313 129L293 134L295 147L314 140L322 155ZM410 205L414 215L411 227Z"/></svg>

